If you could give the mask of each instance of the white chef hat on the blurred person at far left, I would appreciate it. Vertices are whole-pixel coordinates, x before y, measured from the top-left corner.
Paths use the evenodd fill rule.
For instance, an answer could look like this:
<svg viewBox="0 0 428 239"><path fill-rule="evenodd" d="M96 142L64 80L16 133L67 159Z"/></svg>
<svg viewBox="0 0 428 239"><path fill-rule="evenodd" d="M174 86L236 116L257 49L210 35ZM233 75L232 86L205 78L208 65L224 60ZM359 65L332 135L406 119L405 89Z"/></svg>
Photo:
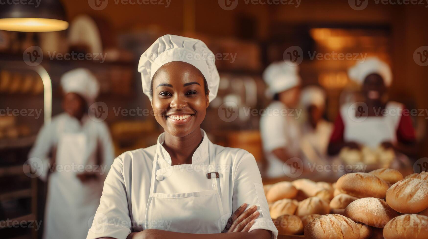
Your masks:
<svg viewBox="0 0 428 239"><path fill-rule="evenodd" d="M77 93L92 104L98 96L100 85L96 77L85 68L76 68L61 76L61 87L64 93Z"/></svg>

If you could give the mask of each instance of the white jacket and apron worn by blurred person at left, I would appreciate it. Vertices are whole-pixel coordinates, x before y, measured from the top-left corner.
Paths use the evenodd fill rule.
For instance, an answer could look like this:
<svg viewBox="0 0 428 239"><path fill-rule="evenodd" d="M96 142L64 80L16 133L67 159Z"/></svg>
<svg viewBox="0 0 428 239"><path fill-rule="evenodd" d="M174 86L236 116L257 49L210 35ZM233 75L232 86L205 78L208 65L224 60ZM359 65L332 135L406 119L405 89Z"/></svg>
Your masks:
<svg viewBox="0 0 428 239"><path fill-rule="evenodd" d="M77 139L77 148L73 139ZM105 175L113 163L110 133L104 122L94 122L88 116L81 122L66 113L53 117L52 122L40 130L29 154L30 165L36 163L43 181L47 179L49 167L53 167L49 165L52 147L57 149L56 166L62 168L49 175L43 238L85 238L88 221L99 205ZM92 167L98 163L97 152L101 154L103 169ZM40 162L43 167L37 165ZM87 165L98 172L105 170L104 175L97 180L81 182L76 175L83 173Z"/></svg>

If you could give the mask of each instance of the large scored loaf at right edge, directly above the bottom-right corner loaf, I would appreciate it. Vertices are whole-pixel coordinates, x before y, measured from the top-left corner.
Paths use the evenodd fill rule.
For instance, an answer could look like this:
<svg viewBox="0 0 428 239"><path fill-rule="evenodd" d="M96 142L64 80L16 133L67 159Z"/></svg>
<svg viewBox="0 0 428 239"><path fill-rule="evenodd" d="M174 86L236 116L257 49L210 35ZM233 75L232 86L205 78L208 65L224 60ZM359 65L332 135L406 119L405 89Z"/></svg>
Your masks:
<svg viewBox="0 0 428 239"><path fill-rule="evenodd" d="M399 213L419 213L428 207L428 181L407 178L386 192L386 202Z"/></svg>

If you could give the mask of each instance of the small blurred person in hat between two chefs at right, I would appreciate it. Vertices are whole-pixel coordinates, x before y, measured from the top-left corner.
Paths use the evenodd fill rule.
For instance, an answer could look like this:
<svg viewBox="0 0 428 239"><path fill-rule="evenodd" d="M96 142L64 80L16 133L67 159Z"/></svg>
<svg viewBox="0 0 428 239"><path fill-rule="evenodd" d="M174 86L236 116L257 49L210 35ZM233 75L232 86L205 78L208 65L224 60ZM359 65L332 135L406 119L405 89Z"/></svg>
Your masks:
<svg viewBox="0 0 428 239"><path fill-rule="evenodd" d="M300 96L300 104L306 116L302 122L300 147L305 158L312 162L325 159L333 130L333 124L323 118L325 100L324 89L315 85L303 88Z"/></svg>

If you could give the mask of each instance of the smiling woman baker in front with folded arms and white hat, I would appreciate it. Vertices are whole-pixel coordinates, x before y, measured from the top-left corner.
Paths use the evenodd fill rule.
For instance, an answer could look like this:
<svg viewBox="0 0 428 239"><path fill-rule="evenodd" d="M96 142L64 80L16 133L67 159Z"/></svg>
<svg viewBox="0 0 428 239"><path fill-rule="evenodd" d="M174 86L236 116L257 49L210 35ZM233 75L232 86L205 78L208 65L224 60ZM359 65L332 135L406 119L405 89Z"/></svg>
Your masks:
<svg viewBox="0 0 428 239"><path fill-rule="evenodd" d="M211 143L200 128L220 81L213 53L164 35L138 71L165 132L114 160L87 238L276 238L253 155Z"/></svg>

